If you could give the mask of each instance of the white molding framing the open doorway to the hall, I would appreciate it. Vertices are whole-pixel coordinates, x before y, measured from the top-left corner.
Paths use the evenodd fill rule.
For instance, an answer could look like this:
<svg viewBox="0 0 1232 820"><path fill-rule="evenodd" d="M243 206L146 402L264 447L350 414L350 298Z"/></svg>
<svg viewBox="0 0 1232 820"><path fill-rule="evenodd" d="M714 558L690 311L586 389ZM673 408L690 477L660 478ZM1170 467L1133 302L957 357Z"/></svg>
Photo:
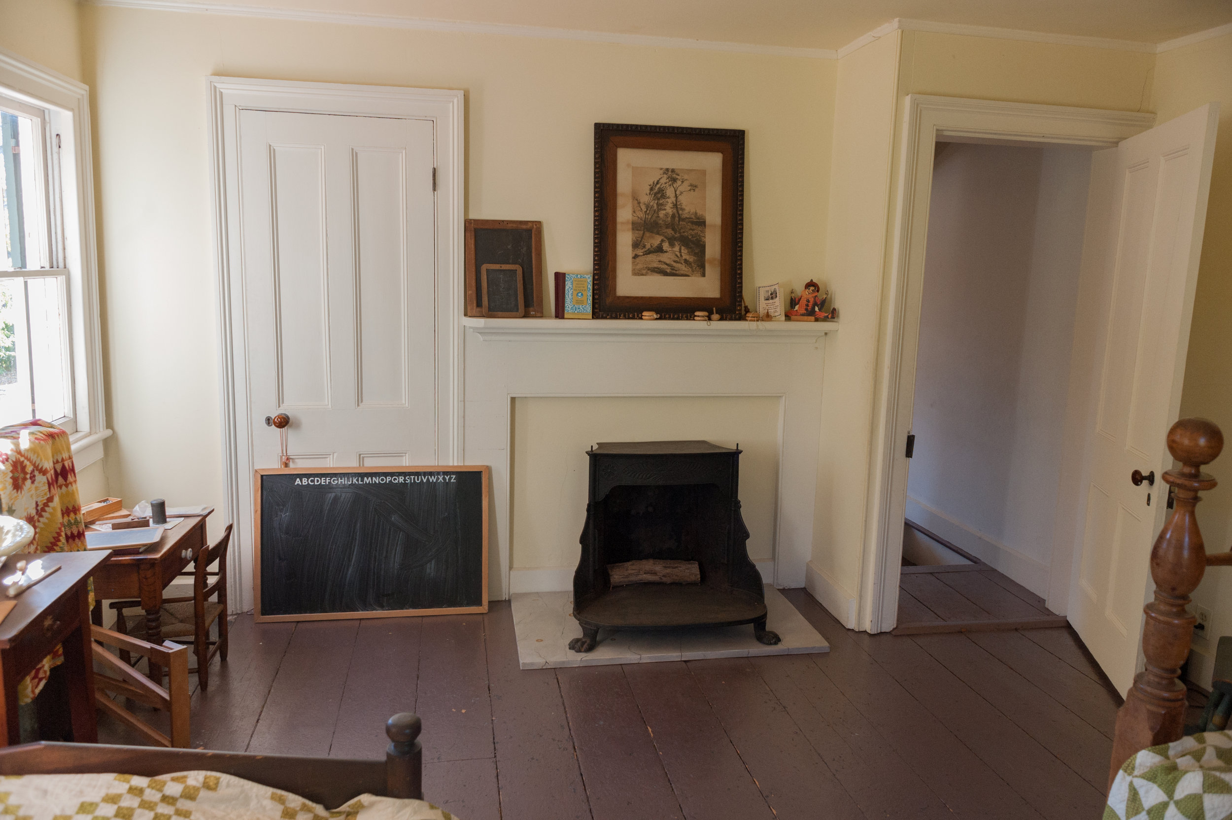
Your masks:
<svg viewBox="0 0 1232 820"><path fill-rule="evenodd" d="M904 442L915 393L915 353L924 247L928 238L933 155L938 138L1015 145L1089 145L1111 148L1154 126L1153 113L1069 108L1021 102L908 95L902 132L898 191L893 204L891 261L886 283L886 319L878 339L878 380L870 452L870 485L860 589L860 625L869 632L892 629L898 613L902 520L907 504L908 459ZM897 522L897 523L896 523ZM1060 543L1060 539L1058 542ZM1072 539L1069 539L1072 547ZM1053 554L1064 575L1068 600L1069 563ZM1061 564L1064 564L1062 568ZM1053 571L1053 580L1058 571ZM1050 585L1050 602L1058 584Z"/></svg>

